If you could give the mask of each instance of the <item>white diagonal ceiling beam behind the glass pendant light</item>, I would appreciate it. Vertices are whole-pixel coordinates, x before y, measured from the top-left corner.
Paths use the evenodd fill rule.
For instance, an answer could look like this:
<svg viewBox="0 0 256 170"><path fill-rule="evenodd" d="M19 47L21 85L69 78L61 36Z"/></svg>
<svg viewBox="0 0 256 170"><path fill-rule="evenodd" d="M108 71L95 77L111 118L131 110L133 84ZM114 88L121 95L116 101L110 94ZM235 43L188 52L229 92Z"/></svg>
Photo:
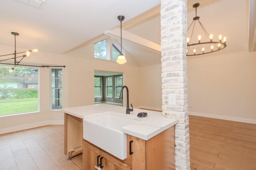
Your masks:
<svg viewBox="0 0 256 170"><path fill-rule="evenodd" d="M108 30L105 32L105 34L109 35L110 37L120 38L120 28ZM148 39L144 39L144 38L142 38L138 35L135 35L133 33L130 33L124 29L122 29L122 39L124 41L134 43L140 47L144 47L146 49L150 49L152 51L161 53L161 45L156 44L152 41L149 41Z"/></svg>

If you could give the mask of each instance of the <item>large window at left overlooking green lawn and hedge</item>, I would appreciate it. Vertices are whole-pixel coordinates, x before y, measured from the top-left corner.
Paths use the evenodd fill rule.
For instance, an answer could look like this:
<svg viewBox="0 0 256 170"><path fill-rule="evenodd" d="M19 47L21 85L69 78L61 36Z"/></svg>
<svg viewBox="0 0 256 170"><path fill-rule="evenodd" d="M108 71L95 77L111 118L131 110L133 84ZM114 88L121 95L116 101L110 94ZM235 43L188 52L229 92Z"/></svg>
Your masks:
<svg viewBox="0 0 256 170"><path fill-rule="evenodd" d="M38 111L38 68L0 65L0 116Z"/></svg>

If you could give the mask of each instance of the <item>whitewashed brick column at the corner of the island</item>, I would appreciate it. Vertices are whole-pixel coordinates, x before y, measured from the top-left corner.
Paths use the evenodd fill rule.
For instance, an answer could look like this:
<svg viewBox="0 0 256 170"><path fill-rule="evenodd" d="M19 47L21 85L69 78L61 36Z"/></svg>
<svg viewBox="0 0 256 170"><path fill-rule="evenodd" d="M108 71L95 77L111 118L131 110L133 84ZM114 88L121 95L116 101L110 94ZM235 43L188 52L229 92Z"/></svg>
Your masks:
<svg viewBox="0 0 256 170"><path fill-rule="evenodd" d="M190 169L187 89L187 0L161 0L162 109L175 126L176 170ZM176 94L176 105L168 104Z"/></svg>

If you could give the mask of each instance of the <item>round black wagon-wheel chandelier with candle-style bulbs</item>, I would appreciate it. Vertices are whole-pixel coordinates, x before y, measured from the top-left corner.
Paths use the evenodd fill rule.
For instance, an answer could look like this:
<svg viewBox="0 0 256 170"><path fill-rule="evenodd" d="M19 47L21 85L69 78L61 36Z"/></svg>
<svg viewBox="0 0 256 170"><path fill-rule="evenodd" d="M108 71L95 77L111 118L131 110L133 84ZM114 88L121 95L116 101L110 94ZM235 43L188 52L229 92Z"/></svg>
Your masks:
<svg viewBox="0 0 256 170"><path fill-rule="evenodd" d="M197 7L198 6L199 6L199 3L193 5L193 7L196 8L196 16L193 18L192 23L188 27L188 30L189 30L190 27L194 23L194 25L192 27L191 36L186 38L187 56L195 56L195 55L203 55L203 54L213 53L216 51L220 51L227 46L226 45L227 37L222 37L222 35L218 35L218 41L213 41L213 34L209 34L206 31L206 29L204 28L204 26L202 25L202 23L199 20L200 17L197 16ZM198 35L198 37L197 37L198 42L193 42L193 43L191 42L196 22L202 27L202 30L203 30L204 34L206 35L206 39L208 39L208 41L201 42L202 35ZM196 51L197 49L200 49L200 48L201 48L200 51Z"/></svg>

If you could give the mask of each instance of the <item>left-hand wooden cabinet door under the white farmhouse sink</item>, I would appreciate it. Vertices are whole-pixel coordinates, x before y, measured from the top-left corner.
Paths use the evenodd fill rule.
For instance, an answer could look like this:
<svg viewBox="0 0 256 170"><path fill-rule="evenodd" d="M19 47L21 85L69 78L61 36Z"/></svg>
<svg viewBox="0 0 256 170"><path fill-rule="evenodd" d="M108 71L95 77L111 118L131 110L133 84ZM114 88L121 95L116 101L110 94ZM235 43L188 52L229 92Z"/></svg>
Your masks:
<svg viewBox="0 0 256 170"><path fill-rule="evenodd" d="M94 170L100 164L100 150L90 143L83 141L83 170Z"/></svg>

